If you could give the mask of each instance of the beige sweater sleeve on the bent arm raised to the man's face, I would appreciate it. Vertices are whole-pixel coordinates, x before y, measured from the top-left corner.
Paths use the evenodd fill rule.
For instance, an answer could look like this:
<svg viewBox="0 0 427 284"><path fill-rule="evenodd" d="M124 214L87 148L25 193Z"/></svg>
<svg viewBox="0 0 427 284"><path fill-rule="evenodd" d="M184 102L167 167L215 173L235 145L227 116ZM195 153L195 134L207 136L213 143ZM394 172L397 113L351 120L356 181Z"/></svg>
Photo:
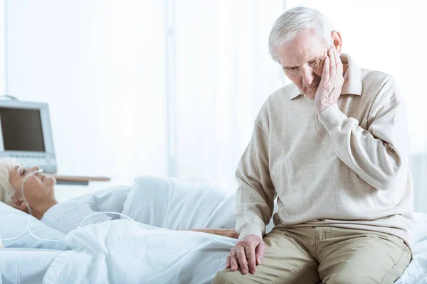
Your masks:
<svg viewBox="0 0 427 284"><path fill-rule="evenodd" d="M330 134L337 156L377 190L390 190L408 158L406 107L393 80L379 89L371 106L367 129L347 117L337 104L318 116Z"/></svg>

